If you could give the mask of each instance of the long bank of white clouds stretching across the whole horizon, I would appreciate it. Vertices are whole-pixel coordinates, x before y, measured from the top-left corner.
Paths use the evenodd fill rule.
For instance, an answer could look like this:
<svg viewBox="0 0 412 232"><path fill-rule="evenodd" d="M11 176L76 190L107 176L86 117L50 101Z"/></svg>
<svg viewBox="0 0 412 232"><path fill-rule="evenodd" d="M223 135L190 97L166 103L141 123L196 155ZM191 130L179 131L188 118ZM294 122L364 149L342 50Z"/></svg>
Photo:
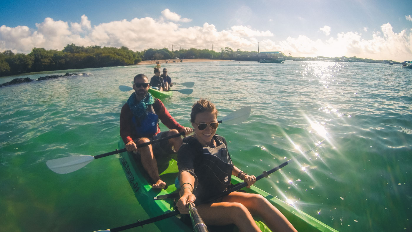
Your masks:
<svg viewBox="0 0 412 232"><path fill-rule="evenodd" d="M275 40L274 33L269 30L260 31L248 26L232 26L227 30L217 30L215 25L209 23L183 27L175 21L150 17L93 26L85 15L79 23L70 23L70 26L67 22L46 18L42 23L36 23L36 27L1 26L0 52L12 50L15 53L29 53L33 47L61 50L72 43L79 46L125 46L133 51L164 47L171 49L172 44L182 49L211 49L213 44L215 51L222 47L257 51L259 41L260 51L281 51L293 56L358 56L395 61L405 61L412 57L412 31L395 33L389 23L382 25L379 31L372 32L372 38L368 40L361 33L349 31L338 33L327 40L314 40L299 35L281 41ZM320 30L330 33L328 26ZM165 34L168 36L165 37Z"/></svg>

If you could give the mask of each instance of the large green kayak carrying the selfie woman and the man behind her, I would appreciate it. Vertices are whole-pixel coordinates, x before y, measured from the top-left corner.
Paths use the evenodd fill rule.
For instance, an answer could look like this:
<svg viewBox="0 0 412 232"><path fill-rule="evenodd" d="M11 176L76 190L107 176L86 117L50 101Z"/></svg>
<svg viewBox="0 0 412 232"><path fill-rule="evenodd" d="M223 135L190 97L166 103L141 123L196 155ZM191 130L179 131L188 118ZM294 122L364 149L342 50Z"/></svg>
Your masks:
<svg viewBox="0 0 412 232"><path fill-rule="evenodd" d="M119 149L124 148L124 143L120 139ZM120 153L120 163L122 164L126 178L129 181L133 192L143 210L152 218L162 215L164 213L175 210L174 199L157 199L155 197L160 195L178 194L176 190L175 179L178 174L178 167L176 159L169 158L168 160L157 160L160 178L165 181L166 189L155 190L152 189L152 185L147 181L147 174L145 173L140 161L136 161L135 155L129 152ZM143 171L142 171L143 170ZM232 184L241 182L236 176L232 176ZM243 182L243 181L242 181ZM296 228L297 231L305 232L337 232L332 227L322 223L321 221L309 216L308 214L295 209L293 206L283 202L282 200L270 195L269 193L259 189L258 187L251 186L250 189L243 188L242 190L250 193L256 193L264 196L269 200L283 215L288 218L290 223ZM177 199L176 199L177 200ZM254 218L255 223L260 227L262 232L270 232L269 228L263 223L260 218ZM190 221L187 223L182 220L181 216L174 216L166 218L164 220L155 222L155 225L160 231L193 231ZM228 230L228 227L208 227L209 231L239 231L236 227L232 226Z"/></svg>

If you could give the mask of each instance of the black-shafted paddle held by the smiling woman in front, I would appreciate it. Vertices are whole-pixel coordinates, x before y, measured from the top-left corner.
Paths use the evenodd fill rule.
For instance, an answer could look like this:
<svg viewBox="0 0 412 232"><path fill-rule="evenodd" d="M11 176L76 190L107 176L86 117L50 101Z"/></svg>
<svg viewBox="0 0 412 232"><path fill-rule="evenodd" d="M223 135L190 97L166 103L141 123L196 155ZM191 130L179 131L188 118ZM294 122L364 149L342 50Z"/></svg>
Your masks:
<svg viewBox="0 0 412 232"><path fill-rule="evenodd" d="M288 163L290 163L290 160L291 160L291 159L289 159L289 160L286 161L286 162L283 162L281 165L279 165L279 166L277 166L277 167L275 167L275 168L273 168L273 169L270 169L269 171L264 171L261 175L259 175L259 176L256 177L256 181L262 179L263 177L267 177L269 174L272 174L273 172L275 172L275 171L283 168L284 166L288 165ZM234 185L234 187L232 187L231 189L223 191L223 192L222 192L221 194L219 194L218 196L215 196L215 197L213 197L213 198L210 198L210 199L208 199L206 202L208 202L208 201L213 201L213 200L218 199L218 198L220 198L220 197L226 196L226 195L228 195L228 194L231 193L231 192L234 192L234 191L237 191L237 190L239 190L239 189L241 189L241 188L243 188L243 187L246 187L247 185L248 185L248 184L246 184L245 182L236 184L236 185ZM157 221L166 219L166 218L170 218L170 217L176 216L176 215L178 215L178 214L180 214L180 212L179 212L178 210L174 210L174 211L171 211L171 212L168 212L168 213L164 213L164 214L162 214L162 215L159 215L159 216L156 216L156 217L153 217L153 218L149 218L149 219L146 219L146 220L143 220L143 221L138 221L137 223L132 223L132 224L129 224L129 225L124 225L124 226L116 227L116 228L109 229L109 230L98 230L98 231L116 232L116 231L127 230L127 229L130 229L130 228L134 228L134 227L138 227L138 226L143 226L143 225L150 224L150 223L154 223L154 222L157 222Z"/></svg>

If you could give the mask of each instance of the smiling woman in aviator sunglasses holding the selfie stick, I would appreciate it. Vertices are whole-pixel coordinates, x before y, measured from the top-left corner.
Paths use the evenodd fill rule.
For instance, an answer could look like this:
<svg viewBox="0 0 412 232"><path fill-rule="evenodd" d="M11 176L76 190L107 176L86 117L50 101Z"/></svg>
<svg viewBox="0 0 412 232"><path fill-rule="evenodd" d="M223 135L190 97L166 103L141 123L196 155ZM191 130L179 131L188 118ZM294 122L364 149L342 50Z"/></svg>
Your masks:
<svg viewBox="0 0 412 232"><path fill-rule="evenodd" d="M253 185L250 176L232 163L224 137L218 136L218 110L201 99L192 107L190 121L194 135L183 139L178 151L180 213L188 214L187 202L194 202L206 225L235 224L239 231L260 231L252 214L260 216L272 231L296 231L283 214L265 197L246 192L231 192L213 202L205 202L227 189L231 176Z"/></svg>

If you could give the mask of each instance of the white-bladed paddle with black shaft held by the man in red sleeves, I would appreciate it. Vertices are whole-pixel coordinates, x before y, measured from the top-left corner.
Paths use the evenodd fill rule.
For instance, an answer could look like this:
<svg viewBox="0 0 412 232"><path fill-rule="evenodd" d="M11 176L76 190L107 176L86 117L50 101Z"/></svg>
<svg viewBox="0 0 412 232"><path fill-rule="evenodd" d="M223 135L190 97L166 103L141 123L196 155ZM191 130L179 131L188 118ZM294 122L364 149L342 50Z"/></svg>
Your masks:
<svg viewBox="0 0 412 232"><path fill-rule="evenodd" d="M250 105L245 106L245 107L243 107L239 110L235 110L234 112L230 113L229 115L227 115L226 117L224 117L222 120L220 120L218 122L219 122L219 124L224 122L224 123L227 123L229 125L244 122L249 117L251 109L252 109L252 107ZM164 138L155 139L155 140L149 141L147 143L141 143L137 147L141 148L143 146L147 146L147 145L152 144L152 143L157 143L157 142L169 139L169 138L175 138L175 137L182 136L182 135L184 135L184 132L181 132L181 133L175 134L175 135L171 135L171 136L167 136L167 137L164 137ZM82 167L86 166L87 164L89 164L94 159L106 157L106 156L109 156L109 155L119 154L119 153L125 152L125 151L126 151L126 148L123 148L121 150L116 149L115 151L107 152L107 153L96 155L96 156L73 155L73 156L63 157L63 158L59 158L59 159L50 159L46 162L46 164L49 167L49 169L51 169L55 173L66 174L66 173L70 173L70 172L77 171L77 170L81 169Z"/></svg>

